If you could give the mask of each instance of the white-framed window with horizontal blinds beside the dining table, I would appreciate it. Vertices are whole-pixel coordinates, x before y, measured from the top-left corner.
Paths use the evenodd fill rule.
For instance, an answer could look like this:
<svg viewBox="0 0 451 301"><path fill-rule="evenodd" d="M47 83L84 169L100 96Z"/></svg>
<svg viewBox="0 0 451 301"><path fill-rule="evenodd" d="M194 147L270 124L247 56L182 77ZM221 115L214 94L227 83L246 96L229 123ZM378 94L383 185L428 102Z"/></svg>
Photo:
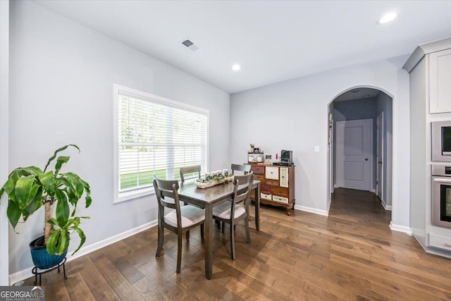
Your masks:
<svg viewBox="0 0 451 301"><path fill-rule="evenodd" d="M114 85L115 202L154 192L154 175L180 179L180 167L207 170L209 111Z"/></svg>

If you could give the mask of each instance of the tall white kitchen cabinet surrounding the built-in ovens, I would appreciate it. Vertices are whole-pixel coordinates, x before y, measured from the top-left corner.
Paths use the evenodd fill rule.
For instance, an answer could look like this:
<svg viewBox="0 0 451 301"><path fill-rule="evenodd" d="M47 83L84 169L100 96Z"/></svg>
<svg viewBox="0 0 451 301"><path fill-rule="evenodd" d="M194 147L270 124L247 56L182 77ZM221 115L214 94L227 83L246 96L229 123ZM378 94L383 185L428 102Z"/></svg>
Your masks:
<svg viewBox="0 0 451 301"><path fill-rule="evenodd" d="M421 44L402 67L410 75L410 230L426 252L451 257L451 228L432 223L431 124L451 121L451 38Z"/></svg>

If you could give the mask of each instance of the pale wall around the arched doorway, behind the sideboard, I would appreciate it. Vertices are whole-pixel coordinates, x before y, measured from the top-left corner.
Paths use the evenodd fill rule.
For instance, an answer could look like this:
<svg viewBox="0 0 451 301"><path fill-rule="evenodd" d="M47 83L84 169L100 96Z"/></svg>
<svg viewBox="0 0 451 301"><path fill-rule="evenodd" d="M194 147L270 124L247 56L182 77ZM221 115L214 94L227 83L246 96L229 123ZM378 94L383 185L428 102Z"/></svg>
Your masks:
<svg viewBox="0 0 451 301"><path fill-rule="evenodd" d="M366 86L393 95L392 228L409 231L409 75L407 56L279 82L230 96L233 162L246 161L249 142L276 154L292 149L296 207L326 214L330 189L327 166L328 104L352 87ZM233 135L243 128L241 135ZM314 145L320 152L314 152Z"/></svg>

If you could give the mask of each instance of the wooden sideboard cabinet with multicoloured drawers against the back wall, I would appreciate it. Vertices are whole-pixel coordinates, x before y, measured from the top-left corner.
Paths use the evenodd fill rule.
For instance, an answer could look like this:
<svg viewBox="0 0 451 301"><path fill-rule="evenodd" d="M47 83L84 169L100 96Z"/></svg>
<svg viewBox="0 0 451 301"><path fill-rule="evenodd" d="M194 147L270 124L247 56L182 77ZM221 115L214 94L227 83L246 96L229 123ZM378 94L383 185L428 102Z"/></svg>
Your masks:
<svg viewBox="0 0 451 301"><path fill-rule="evenodd" d="M260 183L260 202L285 207L287 214L295 208L295 166L252 164L251 171ZM254 191L251 198L254 200Z"/></svg>

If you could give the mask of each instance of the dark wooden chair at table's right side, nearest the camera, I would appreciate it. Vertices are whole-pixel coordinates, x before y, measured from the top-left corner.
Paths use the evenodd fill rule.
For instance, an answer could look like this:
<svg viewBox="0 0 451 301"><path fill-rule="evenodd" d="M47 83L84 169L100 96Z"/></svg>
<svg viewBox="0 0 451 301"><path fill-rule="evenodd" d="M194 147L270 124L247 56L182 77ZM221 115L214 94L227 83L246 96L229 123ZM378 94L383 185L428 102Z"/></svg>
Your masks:
<svg viewBox="0 0 451 301"><path fill-rule="evenodd" d="M213 207L213 218L216 221L230 225L230 255L235 260L235 225L245 220L247 243L251 244L249 234L249 202L254 173L245 176L235 176L233 179L233 197L231 202L225 202ZM223 226L224 229L224 226Z"/></svg>

